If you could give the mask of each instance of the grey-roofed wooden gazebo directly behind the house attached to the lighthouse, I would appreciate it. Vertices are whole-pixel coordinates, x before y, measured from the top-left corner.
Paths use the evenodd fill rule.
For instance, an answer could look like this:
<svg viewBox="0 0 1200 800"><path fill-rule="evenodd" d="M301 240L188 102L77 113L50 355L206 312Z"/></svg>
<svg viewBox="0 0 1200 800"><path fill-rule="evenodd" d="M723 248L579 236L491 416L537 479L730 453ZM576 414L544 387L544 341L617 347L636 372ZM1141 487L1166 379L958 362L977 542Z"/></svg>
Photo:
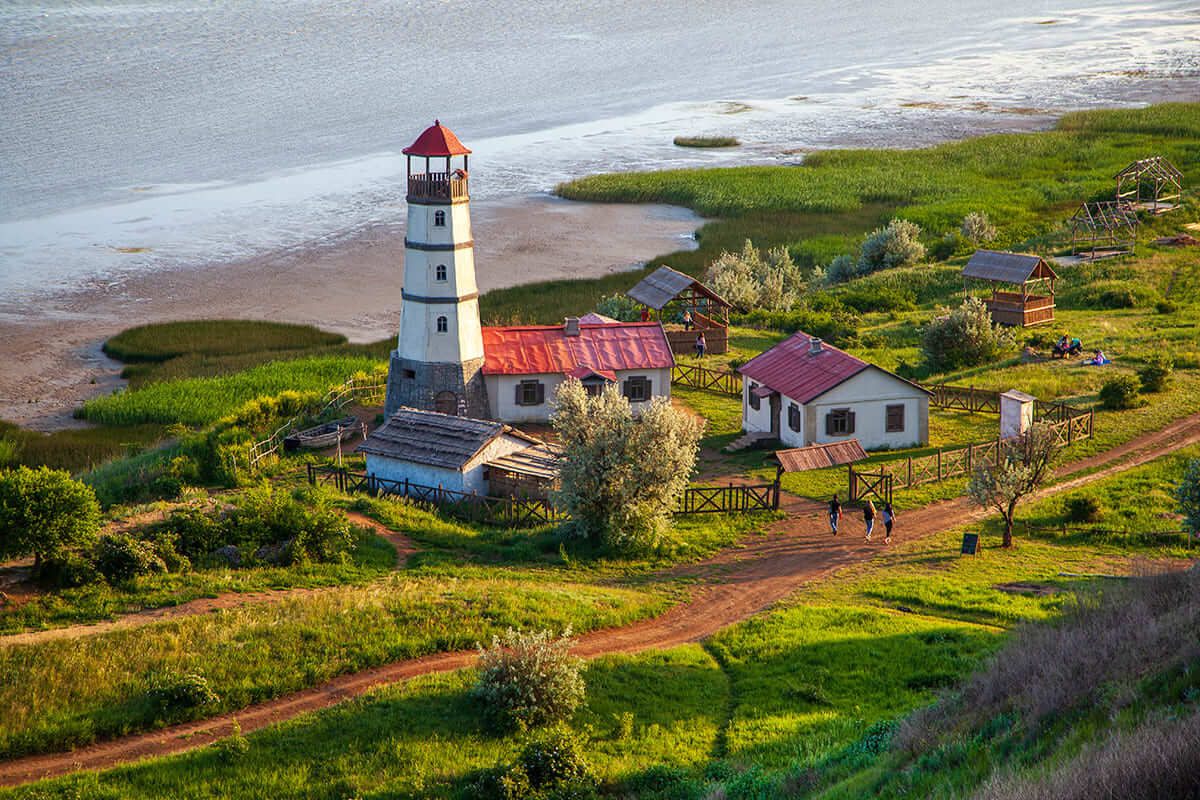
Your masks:
<svg viewBox="0 0 1200 800"><path fill-rule="evenodd" d="M625 296L653 312L652 317L662 323L671 350L677 355L695 353L696 336L701 332L709 353L728 353L730 303L690 275L660 266ZM677 321L684 312L691 314L690 331Z"/></svg>

